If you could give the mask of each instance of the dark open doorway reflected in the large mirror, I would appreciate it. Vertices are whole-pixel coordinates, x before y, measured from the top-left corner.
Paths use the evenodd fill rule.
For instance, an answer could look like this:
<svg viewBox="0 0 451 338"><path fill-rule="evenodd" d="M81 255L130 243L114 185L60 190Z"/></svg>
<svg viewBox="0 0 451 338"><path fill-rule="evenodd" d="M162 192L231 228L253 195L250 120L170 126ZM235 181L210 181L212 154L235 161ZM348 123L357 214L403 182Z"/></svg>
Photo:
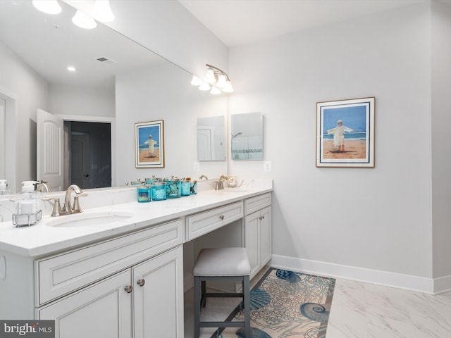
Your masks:
<svg viewBox="0 0 451 338"><path fill-rule="evenodd" d="M111 124L64 121L68 185L111 187Z"/></svg>

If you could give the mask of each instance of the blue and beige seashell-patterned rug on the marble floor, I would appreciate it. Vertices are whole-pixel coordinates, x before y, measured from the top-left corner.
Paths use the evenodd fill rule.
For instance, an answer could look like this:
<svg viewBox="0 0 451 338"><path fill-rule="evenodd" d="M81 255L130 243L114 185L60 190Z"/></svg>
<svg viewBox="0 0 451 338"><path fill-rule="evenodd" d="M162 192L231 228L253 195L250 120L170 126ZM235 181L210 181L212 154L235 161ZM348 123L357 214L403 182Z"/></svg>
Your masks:
<svg viewBox="0 0 451 338"><path fill-rule="evenodd" d="M269 269L251 290L251 338L325 338L335 279ZM242 304L228 320L244 320ZM244 329L219 329L213 336L245 337Z"/></svg>

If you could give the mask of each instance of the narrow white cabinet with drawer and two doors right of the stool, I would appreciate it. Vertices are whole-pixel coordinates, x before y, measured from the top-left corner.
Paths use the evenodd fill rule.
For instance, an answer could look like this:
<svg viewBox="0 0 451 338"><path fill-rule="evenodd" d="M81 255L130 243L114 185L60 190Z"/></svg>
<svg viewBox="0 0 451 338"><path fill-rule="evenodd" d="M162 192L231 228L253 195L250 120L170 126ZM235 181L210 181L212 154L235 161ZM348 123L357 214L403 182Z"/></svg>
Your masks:
<svg viewBox="0 0 451 338"><path fill-rule="evenodd" d="M245 199L245 247L252 278L271 260L271 193Z"/></svg>

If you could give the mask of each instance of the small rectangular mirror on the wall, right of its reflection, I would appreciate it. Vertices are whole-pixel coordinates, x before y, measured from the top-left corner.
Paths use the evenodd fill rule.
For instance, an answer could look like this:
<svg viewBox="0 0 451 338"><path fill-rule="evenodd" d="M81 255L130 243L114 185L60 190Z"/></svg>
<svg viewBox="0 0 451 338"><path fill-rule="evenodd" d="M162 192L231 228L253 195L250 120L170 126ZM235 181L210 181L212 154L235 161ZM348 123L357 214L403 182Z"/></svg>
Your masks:
<svg viewBox="0 0 451 338"><path fill-rule="evenodd" d="M263 160L263 115L244 113L230 116L230 149L233 160Z"/></svg>

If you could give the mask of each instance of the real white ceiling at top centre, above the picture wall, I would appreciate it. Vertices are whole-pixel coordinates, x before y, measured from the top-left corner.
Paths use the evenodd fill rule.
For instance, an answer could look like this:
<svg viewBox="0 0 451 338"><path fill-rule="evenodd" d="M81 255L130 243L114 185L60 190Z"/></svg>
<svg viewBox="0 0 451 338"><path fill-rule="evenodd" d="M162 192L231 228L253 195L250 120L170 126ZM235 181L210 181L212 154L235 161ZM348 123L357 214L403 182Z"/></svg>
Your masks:
<svg viewBox="0 0 451 338"><path fill-rule="evenodd" d="M425 0L179 0L226 46L357 18Z"/></svg>

